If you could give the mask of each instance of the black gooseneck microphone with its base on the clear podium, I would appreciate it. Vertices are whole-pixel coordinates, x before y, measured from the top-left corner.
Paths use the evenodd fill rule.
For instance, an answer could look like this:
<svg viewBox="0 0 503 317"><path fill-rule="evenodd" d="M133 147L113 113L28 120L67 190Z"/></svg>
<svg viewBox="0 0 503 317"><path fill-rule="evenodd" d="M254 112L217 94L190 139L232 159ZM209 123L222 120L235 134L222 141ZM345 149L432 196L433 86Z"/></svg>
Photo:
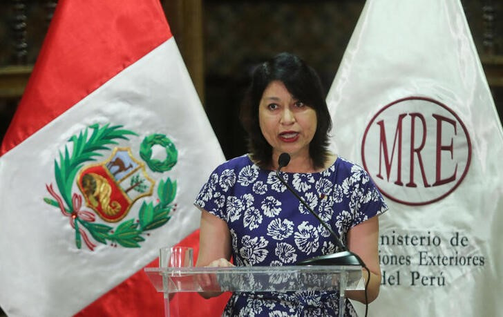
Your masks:
<svg viewBox="0 0 503 317"><path fill-rule="evenodd" d="M294 194L295 198L301 204L305 206L305 208L312 214L314 217L321 223L325 229L330 232L330 235L332 238L334 238L334 242L337 247L339 247L340 250L337 253L331 253L331 254L325 254L323 256L315 256L314 258L309 258L303 261L300 261L297 263L297 265L359 265L361 267L365 267L365 264L361 260L359 256L357 256L355 253L352 253L351 251L348 251L348 249L345 247L345 245L341 242L341 239L339 239L339 236L336 235L336 233L330 228L330 226L324 222L317 213L315 213L309 204L307 204L301 196L296 193L292 187L290 187L285 180L283 180L283 177L279 175L279 171L288 165L290 163L290 154L288 153L281 153L278 157L278 169L276 170L276 177L278 177L278 180L287 187L288 191L290 193Z"/></svg>

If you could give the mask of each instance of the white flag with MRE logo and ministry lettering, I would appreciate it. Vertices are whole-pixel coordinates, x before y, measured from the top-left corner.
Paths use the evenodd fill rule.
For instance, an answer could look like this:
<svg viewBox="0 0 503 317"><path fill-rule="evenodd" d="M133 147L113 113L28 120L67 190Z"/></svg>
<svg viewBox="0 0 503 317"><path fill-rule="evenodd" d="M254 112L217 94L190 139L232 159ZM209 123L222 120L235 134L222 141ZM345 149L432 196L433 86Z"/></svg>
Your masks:
<svg viewBox="0 0 503 317"><path fill-rule="evenodd" d="M327 101L390 206L369 316L500 314L503 132L461 3L368 0Z"/></svg>

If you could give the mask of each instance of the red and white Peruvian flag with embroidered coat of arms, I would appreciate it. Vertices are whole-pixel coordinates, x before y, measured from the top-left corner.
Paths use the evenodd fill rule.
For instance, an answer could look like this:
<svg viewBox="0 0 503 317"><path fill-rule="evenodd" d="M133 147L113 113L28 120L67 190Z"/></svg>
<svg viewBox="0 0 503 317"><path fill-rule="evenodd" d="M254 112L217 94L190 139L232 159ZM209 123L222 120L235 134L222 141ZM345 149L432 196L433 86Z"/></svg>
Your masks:
<svg viewBox="0 0 503 317"><path fill-rule="evenodd" d="M224 157L160 1L59 1L0 155L9 316L164 314L143 269L197 254L193 200Z"/></svg>

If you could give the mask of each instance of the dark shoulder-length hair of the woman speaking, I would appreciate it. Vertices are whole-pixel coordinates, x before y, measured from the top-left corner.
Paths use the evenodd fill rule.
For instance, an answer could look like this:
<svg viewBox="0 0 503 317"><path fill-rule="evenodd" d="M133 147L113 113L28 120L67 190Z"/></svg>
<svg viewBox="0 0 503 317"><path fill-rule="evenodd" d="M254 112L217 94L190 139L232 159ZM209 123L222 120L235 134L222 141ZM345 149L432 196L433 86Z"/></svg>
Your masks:
<svg viewBox="0 0 503 317"><path fill-rule="evenodd" d="M248 133L248 151L258 166L272 166L272 146L267 143L258 123L258 105L271 81L282 81L288 92L316 111L316 132L309 153L316 169L323 168L328 157L328 132L332 119L325 93L316 71L296 55L283 52L257 66L240 109L240 121Z"/></svg>

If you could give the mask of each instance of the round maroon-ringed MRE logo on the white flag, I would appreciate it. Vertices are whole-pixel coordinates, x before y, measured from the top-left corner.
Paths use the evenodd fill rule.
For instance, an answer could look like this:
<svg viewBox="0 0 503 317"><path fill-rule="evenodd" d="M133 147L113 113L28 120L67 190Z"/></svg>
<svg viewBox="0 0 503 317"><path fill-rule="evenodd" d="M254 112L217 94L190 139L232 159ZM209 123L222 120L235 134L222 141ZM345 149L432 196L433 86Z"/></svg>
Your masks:
<svg viewBox="0 0 503 317"><path fill-rule="evenodd" d="M408 205L437 202L452 193L468 172L468 131L448 106L408 97L381 109L361 144L363 166L381 192Z"/></svg>

